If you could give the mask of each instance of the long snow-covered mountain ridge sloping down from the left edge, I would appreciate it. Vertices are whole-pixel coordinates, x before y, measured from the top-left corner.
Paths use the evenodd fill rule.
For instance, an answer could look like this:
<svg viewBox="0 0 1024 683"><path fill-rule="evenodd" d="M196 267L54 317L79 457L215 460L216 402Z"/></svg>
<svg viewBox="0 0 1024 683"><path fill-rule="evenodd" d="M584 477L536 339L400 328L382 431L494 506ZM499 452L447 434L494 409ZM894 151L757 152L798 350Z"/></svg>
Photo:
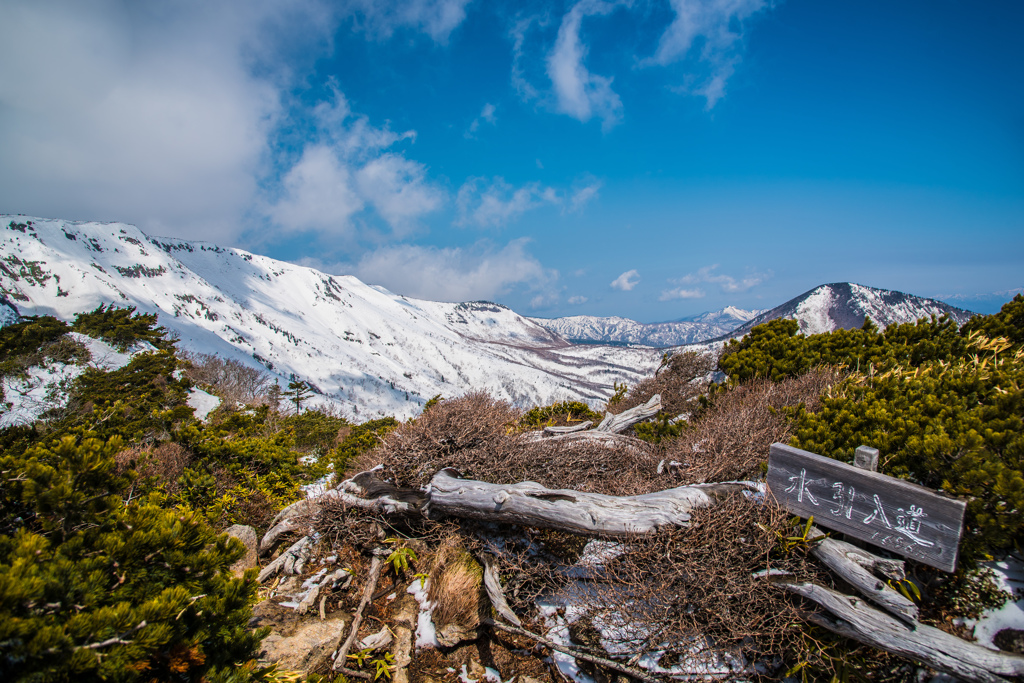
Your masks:
<svg viewBox="0 0 1024 683"><path fill-rule="evenodd" d="M180 345L309 382L348 416L410 417L482 389L531 405L598 404L653 373L653 349L572 346L488 302L409 299L240 249L124 223L0 216L0 291L22 314L101 303L156 312Z"/></svg>

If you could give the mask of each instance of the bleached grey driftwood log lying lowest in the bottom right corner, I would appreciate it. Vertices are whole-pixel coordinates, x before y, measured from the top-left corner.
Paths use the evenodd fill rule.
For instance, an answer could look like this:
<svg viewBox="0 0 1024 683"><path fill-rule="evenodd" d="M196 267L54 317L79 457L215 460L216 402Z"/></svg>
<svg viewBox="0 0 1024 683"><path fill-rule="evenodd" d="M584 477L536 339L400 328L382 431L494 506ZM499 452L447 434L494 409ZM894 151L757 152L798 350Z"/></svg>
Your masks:
<svg viewBox="0 0 1024 683"><path fill-rule="evenodd" d="M1002 676L1024 676L1024 656L989 650L934 627L911 628L858 598L823 586L779 583L827 609L834 616L811 613L807 618L841 636L970 681L1005 683Z"/></svg>

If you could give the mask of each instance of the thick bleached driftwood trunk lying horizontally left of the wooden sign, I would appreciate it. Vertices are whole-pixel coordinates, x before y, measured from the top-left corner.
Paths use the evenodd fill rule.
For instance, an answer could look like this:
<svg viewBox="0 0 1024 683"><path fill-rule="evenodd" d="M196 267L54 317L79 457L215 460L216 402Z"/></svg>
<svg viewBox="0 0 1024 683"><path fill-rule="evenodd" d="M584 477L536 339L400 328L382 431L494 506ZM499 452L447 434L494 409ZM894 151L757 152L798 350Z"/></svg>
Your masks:
<svg viewBox="0 0 1024 683"><path fill-rule="evenodd" d="M573 533L630 536L659 526L685 525L690 510L754 488L749 482L712 483L616 497L547 488L532 481L494 484L463 479L456 470L445 468L433 476L426 492L398 489L372 472L361 472L342 484L341 496L346 504L387 514L451 516Z"/></svg>

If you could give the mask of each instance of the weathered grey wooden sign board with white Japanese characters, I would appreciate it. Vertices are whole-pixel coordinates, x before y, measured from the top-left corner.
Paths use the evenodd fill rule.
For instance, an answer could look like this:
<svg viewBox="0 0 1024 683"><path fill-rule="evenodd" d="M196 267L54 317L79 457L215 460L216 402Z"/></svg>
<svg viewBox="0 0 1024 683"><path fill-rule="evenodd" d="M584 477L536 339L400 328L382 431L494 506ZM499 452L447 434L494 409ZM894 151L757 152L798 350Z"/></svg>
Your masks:
<svg viewBox="0 0 1024 683"><path fill-rule="evenodd" d="M771 446L768 487L782 507L813 515L816 524L944 571L956 568L964 501L781 443Z"/></svg>

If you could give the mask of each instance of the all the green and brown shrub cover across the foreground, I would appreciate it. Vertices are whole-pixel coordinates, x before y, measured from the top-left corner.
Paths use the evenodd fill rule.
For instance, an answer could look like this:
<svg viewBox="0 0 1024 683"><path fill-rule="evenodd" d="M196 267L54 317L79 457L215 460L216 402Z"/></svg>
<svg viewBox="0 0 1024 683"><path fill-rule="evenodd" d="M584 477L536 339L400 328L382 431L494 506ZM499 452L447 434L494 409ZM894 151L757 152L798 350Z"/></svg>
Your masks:
<svg viewBox="0 0 1024 683"><path fill-rule="evenodd" d="M86 362L72 331L125 352L147 350L118 370L86 369L58 408L0 431L3 680L283 680L259 658L265 631L247 626L257 597L270 592L253 570L230 571L243 548L219 532L236 523L265 531L303 485L378 466L383 479L411 488L453 467L493 483L628 496L759 479L776 441L846 461L858 445L872 445L884 473L970 501L957 573L908 563L922 621L952 631L955 617L1007 598L978 562L1024 551L1020 296L962 329L933 318L803 336L795 323L775 321L730 343L717 368L699 354L667 356L654 377L616 387L601 407L617 414L662 395L662 414L633 428L641 440L628 455L585 439L556 445L531 437L545 426L598 423L602 414L583 403L524 412L477 392L437 397L410 422L364 424L301 410L264 373L184 353L156 316L113 306L71 326L36 317L0 330L0 371ZM716 370L725 380L714 384ZM205 422L187 405L193 388L221 398ZM440 584L442 575L462 587L462 597L444 603L437 618L486 620L475 597L477 562L486 558L528 630L561 623L578 645L622 663L654 652L647 664L671 669L707 657L705 666L748 679L915 676L913 665L809 626L806 605L756 579L770 568L831 581L809 560L811 544L795 524L758 498L735 497L698 511L686 528L628 544L466 520L399 520L338 502L299 526L318 533L315 561L356 577L366 575L372 548L389 546L397 559L389 559L373 598L385 605L375 612L384 622L389 593L406 596L412 582ZM588 564L595 552L604 559ZM463 567L458 582L455 564ZM559 622L564 613L543 615L541 596L571 597L581 617L567 625ZM321 609L330 616L358 600L338 589L325 594ZM506 676L553 676L529 654L531 641L486 642ZM457 669L463 651L402 666L420 683ZM397 666L361 650L350 661L378 680ZM582 666L611 680L598 665Z"/></svg>

